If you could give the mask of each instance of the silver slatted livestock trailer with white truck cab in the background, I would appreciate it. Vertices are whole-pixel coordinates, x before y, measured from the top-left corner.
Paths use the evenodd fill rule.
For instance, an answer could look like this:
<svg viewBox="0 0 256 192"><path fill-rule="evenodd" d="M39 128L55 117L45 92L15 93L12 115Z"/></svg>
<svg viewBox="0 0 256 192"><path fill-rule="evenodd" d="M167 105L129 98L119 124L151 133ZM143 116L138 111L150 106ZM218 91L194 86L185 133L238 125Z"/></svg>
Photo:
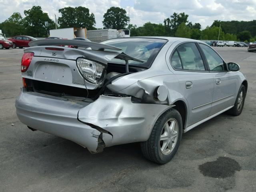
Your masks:
<svg viewBox="0 0 256 192"><path fill-rule="evenodd" d="M130 37L130 30L100 29L87 31L87 38L92 42L102 42L104 40L122 37Z"/></svg>

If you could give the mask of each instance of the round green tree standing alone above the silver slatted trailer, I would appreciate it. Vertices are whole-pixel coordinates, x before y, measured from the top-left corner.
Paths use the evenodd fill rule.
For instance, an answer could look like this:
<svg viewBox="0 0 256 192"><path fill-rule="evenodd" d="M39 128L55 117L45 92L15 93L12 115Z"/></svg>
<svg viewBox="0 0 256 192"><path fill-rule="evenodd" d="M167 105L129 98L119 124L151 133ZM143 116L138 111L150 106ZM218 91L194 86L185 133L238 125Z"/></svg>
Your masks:
<svg viewBox="0 0 256 192"><path fill-rule="evenodd" d="M126 10L119 7L110 7L103 15L102 24L105 29L125 29L130 18L126 16Z"/></svg>

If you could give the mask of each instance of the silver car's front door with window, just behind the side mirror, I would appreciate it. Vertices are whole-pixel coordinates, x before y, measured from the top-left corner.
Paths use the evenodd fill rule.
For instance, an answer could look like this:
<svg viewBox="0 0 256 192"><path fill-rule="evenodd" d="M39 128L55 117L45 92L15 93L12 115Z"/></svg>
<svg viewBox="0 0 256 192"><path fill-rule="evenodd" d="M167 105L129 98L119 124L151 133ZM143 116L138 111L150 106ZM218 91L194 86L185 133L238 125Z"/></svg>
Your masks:
<svg viewBox="0 0 256 192"><path fill-rule="evenodd" d="M236 84L239 77L236 72L227 70L224 60L210 46L199 45L208 63L210 74L214 79L212 110L210 112L210 115L212 115L234 105L237 91Z"/></svg>

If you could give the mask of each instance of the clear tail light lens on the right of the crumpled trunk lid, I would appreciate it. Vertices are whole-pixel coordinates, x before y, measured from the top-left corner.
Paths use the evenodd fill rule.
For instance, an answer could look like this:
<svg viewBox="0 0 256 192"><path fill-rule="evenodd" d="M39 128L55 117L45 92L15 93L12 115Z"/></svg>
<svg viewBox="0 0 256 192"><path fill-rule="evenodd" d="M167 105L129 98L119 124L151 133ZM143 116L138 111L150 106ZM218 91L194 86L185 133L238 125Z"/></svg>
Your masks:
<svg viewBox="0 0 256 192"><path fill-rule="evenodd" d="M76 60L76 65L86 80L94 84L100 82L105 68L103 65L84 58L78 58Z"/></svg>

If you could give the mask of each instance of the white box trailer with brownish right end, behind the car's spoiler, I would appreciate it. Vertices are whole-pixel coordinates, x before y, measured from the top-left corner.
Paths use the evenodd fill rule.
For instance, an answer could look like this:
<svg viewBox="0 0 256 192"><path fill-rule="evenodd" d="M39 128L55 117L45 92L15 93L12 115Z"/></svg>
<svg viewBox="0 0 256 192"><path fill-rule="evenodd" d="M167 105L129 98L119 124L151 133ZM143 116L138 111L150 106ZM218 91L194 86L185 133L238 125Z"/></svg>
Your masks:
<svg viewBox="0 0 256 192"><path fill-rule="evenodd" d="M86 38L86 28L63 28L50 30L50 37L73 39L76 37Z"/></svg>

